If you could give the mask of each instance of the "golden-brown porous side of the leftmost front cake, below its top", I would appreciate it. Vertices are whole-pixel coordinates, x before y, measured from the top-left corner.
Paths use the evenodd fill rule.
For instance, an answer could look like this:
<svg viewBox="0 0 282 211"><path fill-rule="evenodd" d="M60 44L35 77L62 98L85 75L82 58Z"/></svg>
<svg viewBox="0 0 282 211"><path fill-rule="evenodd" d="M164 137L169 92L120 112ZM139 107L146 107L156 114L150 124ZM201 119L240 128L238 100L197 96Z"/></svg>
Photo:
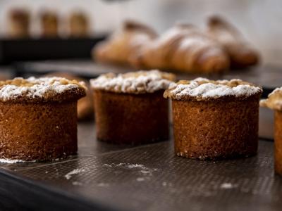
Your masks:
<svg viewBox="0 0 282 211"><path fill-rule="evenodd" d="M77 102L0 102L0 158L54 160L77 152Z"/></svg>

